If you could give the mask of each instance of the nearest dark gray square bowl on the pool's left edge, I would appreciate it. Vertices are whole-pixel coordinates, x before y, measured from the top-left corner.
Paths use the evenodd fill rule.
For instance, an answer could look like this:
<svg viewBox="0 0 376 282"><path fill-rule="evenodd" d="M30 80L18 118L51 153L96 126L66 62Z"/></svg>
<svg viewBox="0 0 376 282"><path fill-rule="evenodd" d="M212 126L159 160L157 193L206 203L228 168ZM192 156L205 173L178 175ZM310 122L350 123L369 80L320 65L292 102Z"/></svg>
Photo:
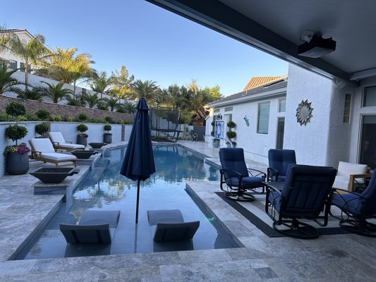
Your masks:
<svg viewBox="0 0 376 282"><path fill-rule="evenodd" d="M30 172L43 183L61 183L67 176L79 173L76 168L38 168L36 171Z"/></svg>

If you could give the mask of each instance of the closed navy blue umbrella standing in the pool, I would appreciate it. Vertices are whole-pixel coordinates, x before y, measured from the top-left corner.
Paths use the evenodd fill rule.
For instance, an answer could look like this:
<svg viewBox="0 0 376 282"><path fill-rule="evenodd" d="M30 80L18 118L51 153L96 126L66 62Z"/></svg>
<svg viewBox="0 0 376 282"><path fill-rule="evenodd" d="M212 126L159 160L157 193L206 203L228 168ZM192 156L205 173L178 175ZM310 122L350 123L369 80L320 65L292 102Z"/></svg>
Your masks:
<svg viewBox="0 0 376 282"><path fill-rule="evenodd" d="M145 98L140 98L136 106L137 113L133 121L131 137L129 137L126 155L120 173L127 178L137 180L137 202L135 223L138 223L138 202L140 200L140 180L145 181L155 172L150 134L149 109Z"/></svg>

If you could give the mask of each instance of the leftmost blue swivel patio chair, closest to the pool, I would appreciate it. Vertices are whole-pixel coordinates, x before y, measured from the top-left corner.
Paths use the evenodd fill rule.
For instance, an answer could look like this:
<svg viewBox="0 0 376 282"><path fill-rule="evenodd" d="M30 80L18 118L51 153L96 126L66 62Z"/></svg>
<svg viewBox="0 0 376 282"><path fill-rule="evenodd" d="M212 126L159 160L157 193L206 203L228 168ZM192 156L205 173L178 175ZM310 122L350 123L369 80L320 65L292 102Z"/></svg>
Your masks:
<svg viewBox="0 0 376 282"><path fill-rule="evenodd" d="M222 166L220 186L226 197L236 201L253 201L255 197L251 192L256 188L262 188L264 192L265 184L262 182L266 173L247 168L242 148L219 149L219 160Z"/></svg>

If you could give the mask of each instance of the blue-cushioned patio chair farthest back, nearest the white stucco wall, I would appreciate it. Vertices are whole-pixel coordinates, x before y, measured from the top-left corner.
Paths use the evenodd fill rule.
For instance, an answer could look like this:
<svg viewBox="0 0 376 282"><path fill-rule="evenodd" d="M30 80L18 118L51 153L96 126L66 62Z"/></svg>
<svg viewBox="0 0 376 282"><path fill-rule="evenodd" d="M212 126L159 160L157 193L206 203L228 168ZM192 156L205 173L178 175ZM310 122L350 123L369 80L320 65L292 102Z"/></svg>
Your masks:
<svg viewBox="0 0 376 282"><path fill-rule="evenodd" d="M269 168L267 168L268 181L284 181L287 168L296 164L295 151L291 149L269 149Z"/></svg>

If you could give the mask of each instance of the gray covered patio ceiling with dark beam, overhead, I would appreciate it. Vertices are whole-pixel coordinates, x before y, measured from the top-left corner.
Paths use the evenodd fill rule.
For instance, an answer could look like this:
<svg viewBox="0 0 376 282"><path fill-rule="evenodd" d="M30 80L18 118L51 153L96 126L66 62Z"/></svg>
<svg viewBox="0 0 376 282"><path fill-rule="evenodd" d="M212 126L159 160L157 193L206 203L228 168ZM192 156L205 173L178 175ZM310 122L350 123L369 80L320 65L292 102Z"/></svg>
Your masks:
<svg viewBox="0 0 376 282"><path fill-rule="evenodd" d="M147 0L327 78L353 85L376 75L375 0ZM336 40L336 50L298 55L305 30Z"/></svg>

